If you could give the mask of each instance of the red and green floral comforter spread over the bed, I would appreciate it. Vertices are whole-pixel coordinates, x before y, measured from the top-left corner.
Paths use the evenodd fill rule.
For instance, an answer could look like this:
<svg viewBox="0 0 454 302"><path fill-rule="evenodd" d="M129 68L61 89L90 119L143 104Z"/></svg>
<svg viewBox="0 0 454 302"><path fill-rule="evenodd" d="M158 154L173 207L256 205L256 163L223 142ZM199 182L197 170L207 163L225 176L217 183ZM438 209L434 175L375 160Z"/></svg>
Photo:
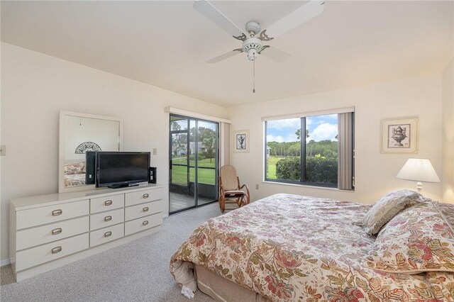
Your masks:
<svg viewBox="0 0 454 302"><path fill-rule="evenodd" d="M454 274L377 272L360 264L375 237L360 227L368 205L277 194L200 225L172 256L179 284L189 265L271 301L454 301ZM441 205L454 223L454 206Z"/></svg>

